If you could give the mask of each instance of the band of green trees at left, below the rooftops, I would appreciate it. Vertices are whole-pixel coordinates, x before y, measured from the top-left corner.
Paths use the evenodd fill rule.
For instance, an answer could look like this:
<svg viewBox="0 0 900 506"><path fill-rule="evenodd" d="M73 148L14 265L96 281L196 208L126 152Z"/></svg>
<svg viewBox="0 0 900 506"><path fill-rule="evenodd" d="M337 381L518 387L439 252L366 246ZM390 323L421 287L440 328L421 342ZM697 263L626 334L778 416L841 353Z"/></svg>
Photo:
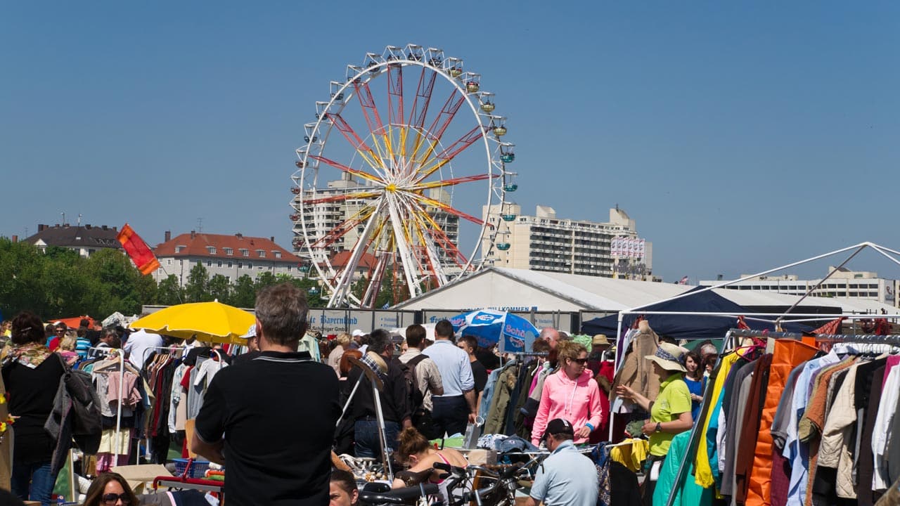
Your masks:
<svg viewBox="0 0 900 506"><path fill-rule="evenodd" d="M121 251L100 249L82 258L68 248L41 251L31 244L0 237L0 312L8 319L21 311L32 311L44 320L90 315L105 318L112 312L134 314L141 305L174 305L218 299L241 308L252 308L257 292L266 286L292 283L307 294L311 307L328 303L319 281L308 276L261 273L257 279L240 276L229 283L226 276L209 276L202 265L188 273L184 287L175 275L157 285L152 276L142 276ZM357 283L361 290L364 283ZM385 276L379 307L394 299L394 283ZM405 292L405 284L396 286ZM398 295L403 295L399 293Z"/></svg>

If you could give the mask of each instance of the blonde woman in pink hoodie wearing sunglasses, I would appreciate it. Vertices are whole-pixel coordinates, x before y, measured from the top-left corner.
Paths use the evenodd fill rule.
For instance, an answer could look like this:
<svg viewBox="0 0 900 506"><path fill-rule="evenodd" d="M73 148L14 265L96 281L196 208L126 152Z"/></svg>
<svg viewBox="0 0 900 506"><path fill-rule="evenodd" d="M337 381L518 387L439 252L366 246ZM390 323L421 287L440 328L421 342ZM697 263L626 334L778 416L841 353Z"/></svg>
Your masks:
<svg viewBox="0 0 900 506"><path fill-rule="evenodd" d="M547 422L562 418L572 423L575 443L587 443L590 433L600 426L605 416L600 406L599 387L586 367L588 349L574 341L562 341L556 350L559 371L544 382L531 442L540 444Z"/></svg>

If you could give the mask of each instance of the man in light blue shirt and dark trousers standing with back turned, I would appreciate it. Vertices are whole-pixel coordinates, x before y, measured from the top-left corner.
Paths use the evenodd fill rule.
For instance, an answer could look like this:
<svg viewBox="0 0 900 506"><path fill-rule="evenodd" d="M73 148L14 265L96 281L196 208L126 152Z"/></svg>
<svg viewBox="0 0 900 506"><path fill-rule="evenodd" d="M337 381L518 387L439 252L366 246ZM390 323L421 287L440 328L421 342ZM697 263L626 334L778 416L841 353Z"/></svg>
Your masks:
<svg viewBox="0 0 900 506"><path fill-rule="evenodd" d="M422 353L435 362L444 384L444 394L431 398L431 418L437 430L447 436L464 434L466 423L475 421L475 380L469 356L453 342L449 321L435 324L435 344Z"/></svg>

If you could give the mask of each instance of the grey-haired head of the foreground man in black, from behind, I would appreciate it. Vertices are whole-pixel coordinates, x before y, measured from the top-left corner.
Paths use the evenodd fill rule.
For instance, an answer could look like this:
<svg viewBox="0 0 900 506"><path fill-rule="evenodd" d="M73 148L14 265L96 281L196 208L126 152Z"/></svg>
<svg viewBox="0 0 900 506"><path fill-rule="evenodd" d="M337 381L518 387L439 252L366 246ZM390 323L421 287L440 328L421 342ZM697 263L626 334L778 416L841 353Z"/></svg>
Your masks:
<svg viewBox="0 0 900 506"><path fill-rule="evenodd" d="M302 339L309 311L306 294L290 283L268 286L257 294L257 319L266 340L273 344L286 345Z"/></svg>

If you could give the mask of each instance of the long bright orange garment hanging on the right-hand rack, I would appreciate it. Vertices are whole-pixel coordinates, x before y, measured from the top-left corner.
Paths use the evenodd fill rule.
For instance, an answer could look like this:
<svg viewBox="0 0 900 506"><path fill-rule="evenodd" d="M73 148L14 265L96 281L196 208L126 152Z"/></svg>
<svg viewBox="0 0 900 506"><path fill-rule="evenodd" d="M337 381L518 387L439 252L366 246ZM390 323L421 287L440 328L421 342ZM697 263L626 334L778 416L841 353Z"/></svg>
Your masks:
<svg viewBox="0 0 900 506"><path fill-rule="evenodd" d="M819 351L817 348L795 339L777 339L772 353L769 372L769 386L766 402L762 406L760 431L756 438L753 456L753 471L750 475L749 490L745 506L770 506L772 474L772 419L779 407L781 392L785 388L791 369L806 362Z"/></svg>

